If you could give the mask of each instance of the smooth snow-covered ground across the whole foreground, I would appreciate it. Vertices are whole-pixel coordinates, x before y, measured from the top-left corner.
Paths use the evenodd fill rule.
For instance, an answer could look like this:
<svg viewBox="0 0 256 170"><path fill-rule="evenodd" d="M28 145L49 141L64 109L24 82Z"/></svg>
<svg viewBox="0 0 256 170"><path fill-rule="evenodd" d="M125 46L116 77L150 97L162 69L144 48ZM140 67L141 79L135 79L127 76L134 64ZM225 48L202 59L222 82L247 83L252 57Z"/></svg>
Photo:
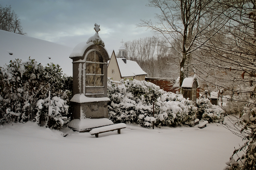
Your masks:
<svg viewBox="0 0 256 170"><path fill-rule="evenodd" d="M220 124L154 130L134 124L95 138L14 123L0 126L0 170L222 170L239 143Z"/></svg>

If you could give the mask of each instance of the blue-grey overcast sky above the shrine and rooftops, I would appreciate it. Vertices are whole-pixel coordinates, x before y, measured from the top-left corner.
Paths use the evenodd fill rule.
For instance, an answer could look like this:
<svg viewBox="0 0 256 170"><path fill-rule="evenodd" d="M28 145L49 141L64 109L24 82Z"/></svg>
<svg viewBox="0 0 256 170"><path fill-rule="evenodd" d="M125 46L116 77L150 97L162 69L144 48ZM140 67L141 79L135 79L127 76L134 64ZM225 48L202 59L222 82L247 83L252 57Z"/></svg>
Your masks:
<svg viewBox="0 0 256 170"><path fill-rule="evenodd" d="M141 19L154 20L157 9L147 3L148 0L0 0L3 7L11 5L27 36L72 48L93 36L97 23L108 53L118 52L122 40L153 36L150 30L136 26Z"/></svg>

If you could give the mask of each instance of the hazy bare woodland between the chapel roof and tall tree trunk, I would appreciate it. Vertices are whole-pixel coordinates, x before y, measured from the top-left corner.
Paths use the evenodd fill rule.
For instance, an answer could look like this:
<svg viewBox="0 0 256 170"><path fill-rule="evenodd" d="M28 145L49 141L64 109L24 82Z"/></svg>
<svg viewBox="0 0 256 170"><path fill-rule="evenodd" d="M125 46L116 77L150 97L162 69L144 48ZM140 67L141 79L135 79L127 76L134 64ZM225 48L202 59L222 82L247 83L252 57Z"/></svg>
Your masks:
<svg viewBox="0 0 256 170"><path fill-rule="evenodd" d="M175 59L167 48L166 40L159 37L145 37L125 42L127 59L136 61L148 77L170 78Z"/></svg>

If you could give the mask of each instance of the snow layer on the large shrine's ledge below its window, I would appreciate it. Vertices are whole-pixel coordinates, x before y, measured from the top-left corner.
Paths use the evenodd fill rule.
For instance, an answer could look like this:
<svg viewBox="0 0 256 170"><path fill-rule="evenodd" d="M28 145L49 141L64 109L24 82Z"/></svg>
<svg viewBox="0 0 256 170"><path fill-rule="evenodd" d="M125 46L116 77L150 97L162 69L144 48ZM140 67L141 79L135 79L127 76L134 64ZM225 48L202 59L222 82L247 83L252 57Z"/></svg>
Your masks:
<svg viewBox="0 0 256 170"><path fill-rule="evenodd" d="M102 101L110 101L108 97L87 97L84 94L75 94L70 102L76 103L87 103L87 102L102 102Z"/></svg>

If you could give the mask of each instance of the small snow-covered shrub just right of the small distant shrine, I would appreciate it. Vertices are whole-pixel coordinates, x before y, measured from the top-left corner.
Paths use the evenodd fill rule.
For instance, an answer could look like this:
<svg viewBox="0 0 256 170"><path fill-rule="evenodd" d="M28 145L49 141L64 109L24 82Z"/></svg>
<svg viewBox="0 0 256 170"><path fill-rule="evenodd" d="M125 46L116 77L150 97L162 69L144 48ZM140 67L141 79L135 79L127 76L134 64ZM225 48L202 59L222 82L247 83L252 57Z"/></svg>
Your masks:
<svg viewBox="0 0 256 170"><path fill-rule="evenodd" d="M218 105L212 105L209 99L199 98L196 101L198 107L197 118L208 122L223 122L224 111Z"/></svg>

